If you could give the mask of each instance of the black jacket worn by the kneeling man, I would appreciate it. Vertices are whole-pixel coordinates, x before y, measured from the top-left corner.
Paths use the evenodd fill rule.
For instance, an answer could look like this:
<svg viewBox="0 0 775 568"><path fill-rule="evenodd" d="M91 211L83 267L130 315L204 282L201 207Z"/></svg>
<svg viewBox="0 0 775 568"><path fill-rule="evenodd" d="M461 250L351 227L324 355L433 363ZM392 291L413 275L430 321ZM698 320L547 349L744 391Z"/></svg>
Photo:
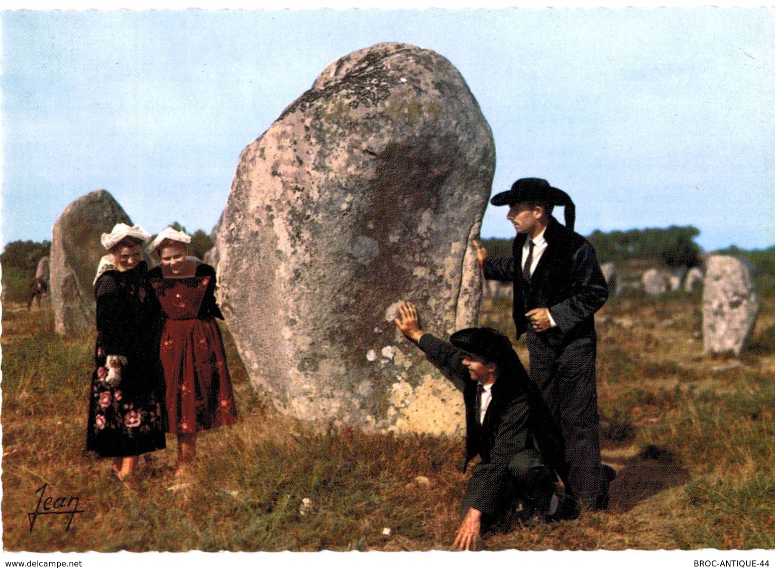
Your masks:
<svg viewBox="0 0 775 568"><path fill-rule="evenodd" d="M466 405L466 466L477 455L487 479L481 484L474 508L493 512L508 481L508 464L516 453L539 447L546 464L560 463L562 442L555 432L549 411L540 393L530 382L525 368L515 355L508 369L494 382L492 399L479 421L479 383L470 378L463 365L465 352L431 334L423 334L418 345L428 360L463 392ZM536 443L537 441L537 443Z"/></svg>

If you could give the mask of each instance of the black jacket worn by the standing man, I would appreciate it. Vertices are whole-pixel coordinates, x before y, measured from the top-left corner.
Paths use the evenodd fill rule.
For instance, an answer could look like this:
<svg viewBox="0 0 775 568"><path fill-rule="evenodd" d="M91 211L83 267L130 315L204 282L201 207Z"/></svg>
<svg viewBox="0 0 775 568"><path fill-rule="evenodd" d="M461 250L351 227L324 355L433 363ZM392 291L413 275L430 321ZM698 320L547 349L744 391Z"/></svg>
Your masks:
<svg viewBox="0 0 775 568"><path fill-rule="evenodd" d="M525 313L549 308L557 324L540 334L554 347L594 332L594 313L608 299L608 285L594 248L580 234L549 217L543 251L530 280L522 277L522 247L527 234L514 239L512 258L487 258L484 278L514 283L513 316L517 336L528 330Z"/></svg>

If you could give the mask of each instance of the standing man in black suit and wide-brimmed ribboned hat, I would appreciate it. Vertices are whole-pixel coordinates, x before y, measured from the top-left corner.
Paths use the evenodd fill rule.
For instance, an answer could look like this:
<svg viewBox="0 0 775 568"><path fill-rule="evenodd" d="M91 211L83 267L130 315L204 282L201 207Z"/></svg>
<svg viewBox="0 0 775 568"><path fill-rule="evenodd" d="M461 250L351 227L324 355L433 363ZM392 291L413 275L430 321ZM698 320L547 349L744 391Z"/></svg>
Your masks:
<svg viewBox="0 0 775 568"><path fill-rule="evenodd" d="M484 278L514 283L514 323L517 337L527 333L530 378L564 440L558 473L579 501L607 508L615 472L600 462L594 313L608 299L608 286L598 258L573 230L574 202L546 180L517 180L490 203L510 207L513 256L487 258L478 242L474 247ZM565 207L565 227L552 217L555 205Z"/></svg>

